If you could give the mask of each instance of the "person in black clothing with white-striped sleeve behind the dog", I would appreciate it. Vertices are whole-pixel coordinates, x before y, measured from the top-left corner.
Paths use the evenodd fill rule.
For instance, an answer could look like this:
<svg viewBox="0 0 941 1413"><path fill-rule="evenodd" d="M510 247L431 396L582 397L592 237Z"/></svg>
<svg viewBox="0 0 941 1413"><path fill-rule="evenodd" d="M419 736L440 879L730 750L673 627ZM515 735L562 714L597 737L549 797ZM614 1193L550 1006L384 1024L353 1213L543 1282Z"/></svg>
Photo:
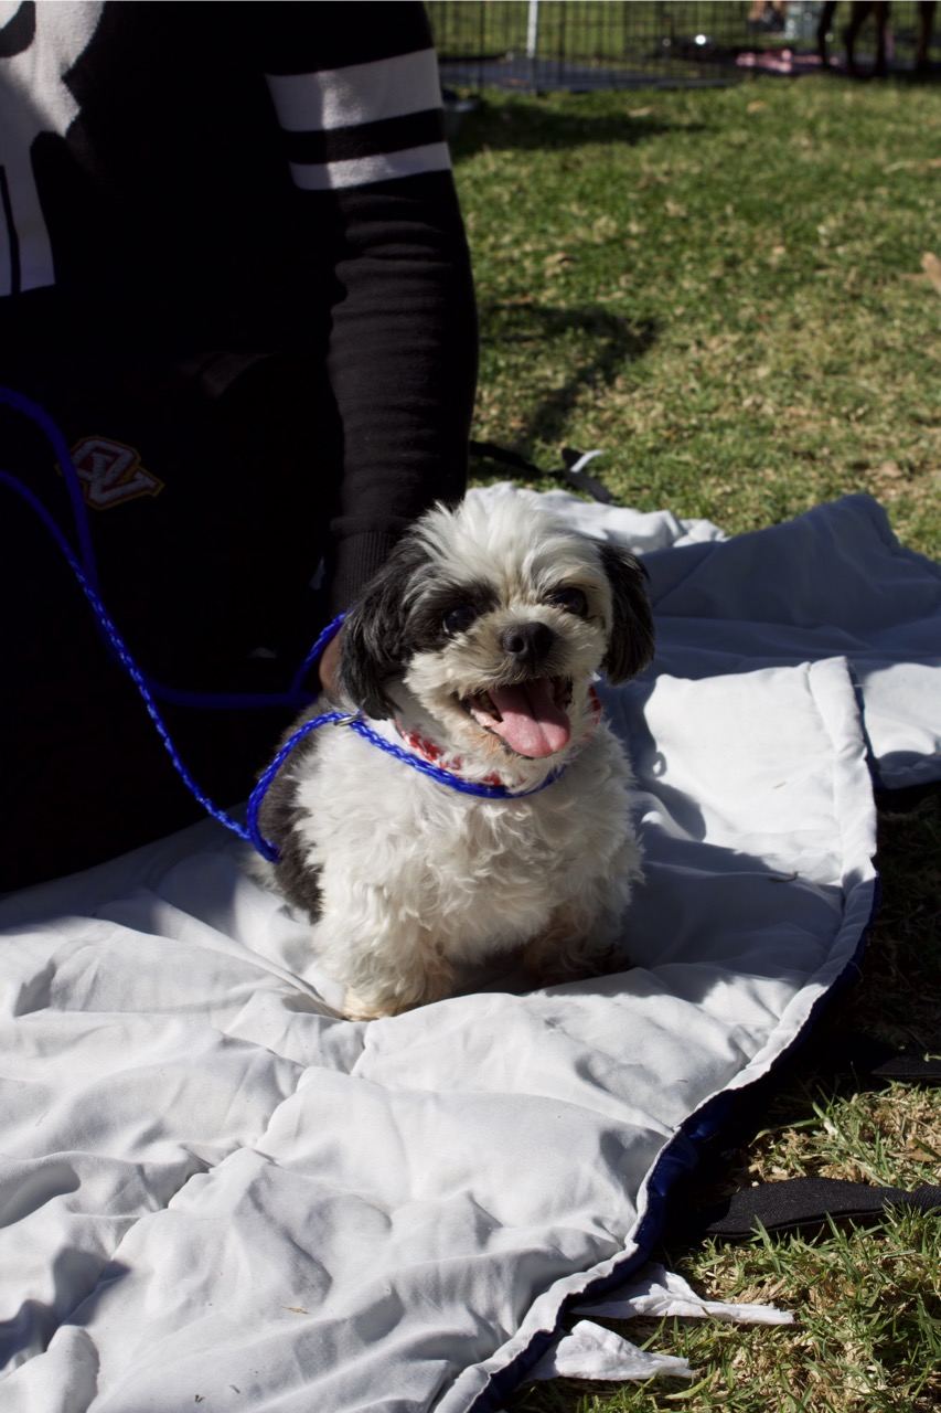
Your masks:
<svg viewBox="0 0 941 1413"><path fill-rule="evenodd" d="M283 691L403 527L463 490L475 373L421 4L57 0L0 27L0 383L64 431L144 671ZM0 466L69 526L54 454L4 410ZM0 890L198 817L3 490L0 601ZM165 715L223 805L284 725Z"/></svg>

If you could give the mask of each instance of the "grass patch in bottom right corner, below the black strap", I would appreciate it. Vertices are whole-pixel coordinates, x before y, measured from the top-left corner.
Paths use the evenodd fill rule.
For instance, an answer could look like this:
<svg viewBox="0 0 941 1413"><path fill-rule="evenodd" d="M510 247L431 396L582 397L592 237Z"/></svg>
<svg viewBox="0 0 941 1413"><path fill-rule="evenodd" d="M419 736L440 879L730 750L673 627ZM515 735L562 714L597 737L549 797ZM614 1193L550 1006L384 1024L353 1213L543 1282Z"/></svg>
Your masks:
<svg viewBox="0 0 941 1413"><path fill-rule="evenodd" d="M634 1342L681 1354L697 1378L603 1395L574 1381L531 1385L510 1400L507 1413L937 1409L941 1301L933 1293L937 1245L924 1219L894 1214L868 1243L831 1228L825 1239L756 1239L747 1252L708 1245L698 1270L699 1284L795 1307L798 1324L615 1323Z"/></svg>

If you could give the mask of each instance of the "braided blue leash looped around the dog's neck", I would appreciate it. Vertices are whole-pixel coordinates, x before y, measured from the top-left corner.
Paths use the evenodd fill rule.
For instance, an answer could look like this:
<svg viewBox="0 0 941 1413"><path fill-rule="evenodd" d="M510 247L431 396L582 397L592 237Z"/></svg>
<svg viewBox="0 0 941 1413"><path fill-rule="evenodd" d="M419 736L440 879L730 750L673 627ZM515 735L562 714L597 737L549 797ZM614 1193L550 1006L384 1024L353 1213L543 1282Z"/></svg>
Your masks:
<svg viewBox="0 0 941 1413"><path fill-rule="evenodd" d="M52 516L45 509L42 502L30 490L28 486L24 486L21 480L18 480L16 476L11 476L6 471L0 471L0 485L7 486L10 490L16 492L16 495L20 496L20 499L24 500L32 512L35 512L35 514L40 517L48 533L55 540L61 552L65 555L75 578L78 579L82 588L82 592L85 593L88 602L92 606L92 612L95 613L99 629L105 634L106 642L110 644L112 651L120 661L122 667L137 687L137 691L140 692L144 701L150 718L154 722L154 726L157 728L157 733L160 735L160 739L162 740L164 747L167 749L177 773L179 774L181 780L184 781L189 793L199 801L206 814L212 815L213 820L218 820L219 824L223 824L226 829L230 829L233 834L237 834L240 839L244 839L247 844L251 844L259 851L259 853L263 858L266 858L270 863L277 863L280 853L277 846L270 839L266 839L266 836L261 834L261 828L259 824L259 814L261 805L278 770L288 759L294 747L307 736L309 736L314 731L319 731L321 726L339 725L339 723L348 725L352 731L357 732L357 735L360 735L365 740L370 742L370 745L377 746L387 755L394 756L397 760L401 760L407 766L411 766L413 770L421 771L421 774L428 776L431 780L437 780L439 784L448 786L451 790L458 790L462 794L476 796L483 800L520 800L530 794L538 794L541 790L545 790L548 786L554 784L554 781L558 780L558 777L562 774L562 770L565 767L552 771L541 784L535 786L533 790L520 790L520 791L507 790L506 786L487 786L487 784L478 784L470 780L462 780L459 776L451 774L441 766L435 766L428 760L422 760L420 756L413 756L411 752L404 750L394 742L386 740L383 736L374 732L372 726L369 726L363 721L362 716L350 715L349 712L333 711L333 712L325 712L321 716L312 716L309 721L302 722L301 726L298 726L288 736L288 739L284 742L284 745L276 755L274 760L261 774L257 786L249 796L246 822L239 824L237 820L233 820L232 815L226 814L225 810L220 810L218 805L212 803L212 800L206 794L203 794L203 791L199 788L194 777L187 770L187 766L181 760L177 747L174 746L174 742L170 736L167 725L160 714L160 708L157 706L157 699L160 698L161 701L167 701L174 705L196 706L208 709L288 706L294 711L298 711L304 706L309 706L311 702L314 701L314 697L309 692L305 692L301 684L307 677L308 671L314 667L314 664L319 661L319 657L324 653L326 644L339 632L346 615L341 613L338 617L333 619L332 623L328 623L328 626L319 634L319 637L314 643L314 647L309 650L309 653L298 667L297 673L294 674L294 680L291 681L290 690L284 694L235 695L223 692L189 692L172 687L165 687L161 682L157 682L154 678L147 677L131 657L127 644L120 636L117 626L114 625L114 620L112 619L110 613L107 612L102 601L97 584L95 551L92 548L92 537L88 526L88 512L85 509L85 497L82 495L82 486L78 471L75 469L75 463L72 462L72 456L69 448L65 444L62 432L55 425L52 418L45 413L45 410L40 407L38 403L31 401L21 393L13 391L13 389L0 387L0 404L6 404L7 407L11 407L18 413L23 413L25 417L30 417L38 427L42 428L49 442L52 444L52 448L59 461L59 466L62 468L62 475L65 476L65 483L68 486L69 499L72 503L72 516L75 519L75 528L78 534L81 552L78 555L75 554L72 545L66 540L58 523L52 519Z"/></svg>

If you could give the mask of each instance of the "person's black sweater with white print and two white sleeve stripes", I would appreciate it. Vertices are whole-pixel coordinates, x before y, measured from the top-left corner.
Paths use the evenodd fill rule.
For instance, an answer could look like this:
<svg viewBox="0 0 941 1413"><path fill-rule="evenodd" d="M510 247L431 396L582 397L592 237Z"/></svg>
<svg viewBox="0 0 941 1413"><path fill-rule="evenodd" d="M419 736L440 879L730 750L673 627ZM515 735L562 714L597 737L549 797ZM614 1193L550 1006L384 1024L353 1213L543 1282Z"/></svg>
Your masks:
<svg viewBox="0 0 941 1413"><path fill-rule="evenodd" d="M129 369L218 394L274 350L325 366L346 603L466 475L473 295L422 6L24 3L0 107L4 380L55 415Z"/></svg>

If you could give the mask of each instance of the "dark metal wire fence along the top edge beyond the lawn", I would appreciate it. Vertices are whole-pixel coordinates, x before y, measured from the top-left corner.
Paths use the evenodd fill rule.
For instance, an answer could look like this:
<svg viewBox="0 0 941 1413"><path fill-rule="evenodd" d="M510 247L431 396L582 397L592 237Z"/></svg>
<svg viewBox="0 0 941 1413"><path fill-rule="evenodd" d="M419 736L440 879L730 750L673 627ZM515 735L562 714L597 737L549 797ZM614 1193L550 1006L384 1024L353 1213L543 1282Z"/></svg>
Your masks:
<svg viewBox="0 0 941 1413"><path fill-rule="evenodd" d="M821 3L807 0L428 0L441 76L521 90L729 83L781 49L818 64ZM831 7L829 51L851 6ZM911 68L916 0L892 6L892 68ZM873 21L858 54L875 48ZM757 62L749 65L747 57ZM743 62L745 61L745 62ZM795 65L793 65L795 68ZM784 66L780 69L786 72Z"/></svg>

